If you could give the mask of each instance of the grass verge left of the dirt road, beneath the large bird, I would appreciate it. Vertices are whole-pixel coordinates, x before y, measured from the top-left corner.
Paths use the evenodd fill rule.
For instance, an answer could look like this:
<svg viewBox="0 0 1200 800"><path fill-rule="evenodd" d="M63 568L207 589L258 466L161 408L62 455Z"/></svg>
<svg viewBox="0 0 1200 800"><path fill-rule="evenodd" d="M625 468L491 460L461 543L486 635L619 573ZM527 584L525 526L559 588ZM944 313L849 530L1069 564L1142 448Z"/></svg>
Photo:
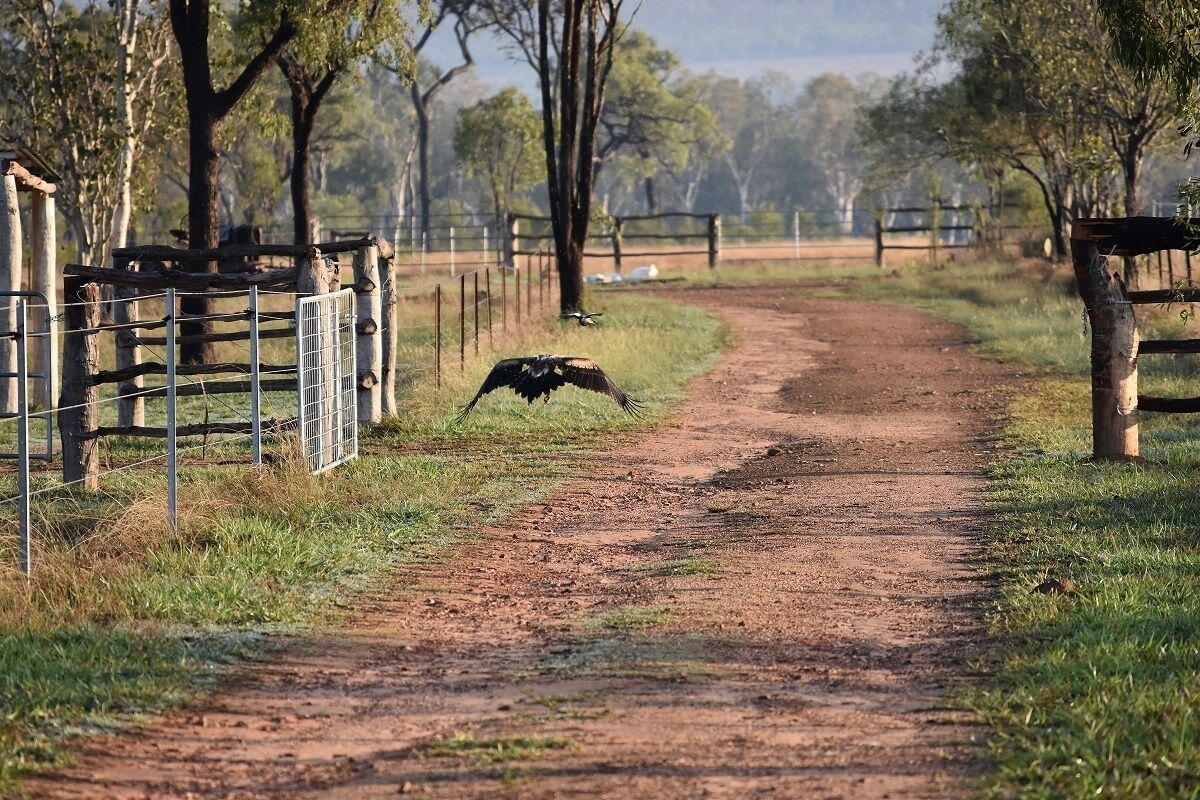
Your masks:
<svg viewBox="0 0 1200 800"><path fill-rule="evenodd" d="M62 735L178 706L224 664L268 646L258 633L335 620L397 570L444 558L552 492L581 474L583 455L670 413L726 343L700 308L646 296L606 307L604 329L528 326L497 353L468 357L463 375L449 369L440 390L413 384L406 415L325 476L307 476L287 441L262 471L245 465L244 444L221 445L240 463L185 467L178 535L164 529L158 469L107 476L98 495L47 495L35 507L29 584L12 569L12 540L0 540L0 793L60 759ZM497 392L452 422L494 359L536 351L596 359L646 402L644 417L568 387L535 407Z"/></svg>

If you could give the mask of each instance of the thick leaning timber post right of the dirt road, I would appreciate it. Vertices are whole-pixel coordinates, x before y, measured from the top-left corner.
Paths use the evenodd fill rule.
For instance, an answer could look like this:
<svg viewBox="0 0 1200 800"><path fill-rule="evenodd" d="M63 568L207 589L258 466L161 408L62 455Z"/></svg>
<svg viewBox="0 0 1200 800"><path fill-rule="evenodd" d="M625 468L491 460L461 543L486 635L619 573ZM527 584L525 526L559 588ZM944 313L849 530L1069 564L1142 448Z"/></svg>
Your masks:
<svg viewBox="0 0 1200 800"><path fill-rule="evenodd" d="M1092 456L1138 458L1138 323L1129 293L1093 242L1072 239L1070 248L1092 324Z"/></svg>

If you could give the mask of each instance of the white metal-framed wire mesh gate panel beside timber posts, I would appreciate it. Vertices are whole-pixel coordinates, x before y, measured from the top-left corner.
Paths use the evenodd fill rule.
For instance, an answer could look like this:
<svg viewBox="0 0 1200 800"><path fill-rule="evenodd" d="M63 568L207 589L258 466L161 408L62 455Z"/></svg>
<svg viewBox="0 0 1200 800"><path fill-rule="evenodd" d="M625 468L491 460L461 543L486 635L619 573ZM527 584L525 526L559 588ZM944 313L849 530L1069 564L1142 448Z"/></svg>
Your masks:
<svg viewBox="0 0 1200 800"><path fill-rule="evenodd" d="M353 289L296 300L296 365L300 440L317 475L359 455Z"/></svg>

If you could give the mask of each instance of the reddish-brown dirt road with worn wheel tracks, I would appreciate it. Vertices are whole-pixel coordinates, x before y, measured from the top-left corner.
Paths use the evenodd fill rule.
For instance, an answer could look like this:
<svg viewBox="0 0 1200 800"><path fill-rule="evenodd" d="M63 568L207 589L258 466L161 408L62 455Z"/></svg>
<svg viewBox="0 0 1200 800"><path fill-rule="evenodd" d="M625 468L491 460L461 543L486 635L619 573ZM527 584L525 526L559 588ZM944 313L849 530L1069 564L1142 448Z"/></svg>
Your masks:
<svg viewBox="0 0 1200 800"><path fill-rule="evenodd" d="M738 347L672 422L31 795L962 796L1001 368L890 306L679 294Z"/></svg>

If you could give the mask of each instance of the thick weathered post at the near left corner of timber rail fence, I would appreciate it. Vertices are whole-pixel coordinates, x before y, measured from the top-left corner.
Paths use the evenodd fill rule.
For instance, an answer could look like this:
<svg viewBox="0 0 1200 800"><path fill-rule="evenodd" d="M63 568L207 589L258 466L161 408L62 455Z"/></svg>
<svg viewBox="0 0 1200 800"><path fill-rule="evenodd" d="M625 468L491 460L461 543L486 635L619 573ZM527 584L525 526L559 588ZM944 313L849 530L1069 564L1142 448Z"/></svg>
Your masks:
<svg viewBox="0 0 1200 800"><path fill-rule="evenodd" d="M62 440L62 481L100 488L100 458L91 435L100 423L100 392L92 377L100 368L100 287L84 278L64 282L66 332L62 342L62 395L59 437Z"/></svg>

